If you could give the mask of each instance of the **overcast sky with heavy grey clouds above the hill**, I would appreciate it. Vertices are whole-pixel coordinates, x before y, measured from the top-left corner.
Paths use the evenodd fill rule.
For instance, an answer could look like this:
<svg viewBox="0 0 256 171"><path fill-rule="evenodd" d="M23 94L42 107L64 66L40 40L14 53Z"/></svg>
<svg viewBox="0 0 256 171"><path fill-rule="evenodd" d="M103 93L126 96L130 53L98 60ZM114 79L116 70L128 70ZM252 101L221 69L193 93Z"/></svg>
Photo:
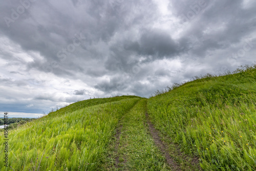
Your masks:
<svg viewBox="0 0 256 171"><path fill-rule="evenodd" d="M0 111L148 97L251 64L255 9L254 0L1 1Z"/></svg>

